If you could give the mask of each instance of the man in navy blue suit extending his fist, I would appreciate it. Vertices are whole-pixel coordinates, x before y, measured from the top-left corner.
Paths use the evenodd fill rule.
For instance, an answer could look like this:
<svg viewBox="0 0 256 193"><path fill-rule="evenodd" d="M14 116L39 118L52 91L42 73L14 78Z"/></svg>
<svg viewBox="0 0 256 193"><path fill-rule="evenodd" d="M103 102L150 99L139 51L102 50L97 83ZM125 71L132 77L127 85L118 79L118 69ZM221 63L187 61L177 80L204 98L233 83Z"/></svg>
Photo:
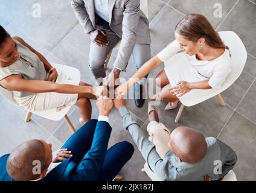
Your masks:
<svg viewBox="0 0 256 193"><path fill-rule="evenodd" d="M113 101L97 100L98 121L92 119L52 153L51 144L33 139L0 158L1 181L110 181L132 157L134 148L123 141L107 150L111 133L108 115Z"/></svg>

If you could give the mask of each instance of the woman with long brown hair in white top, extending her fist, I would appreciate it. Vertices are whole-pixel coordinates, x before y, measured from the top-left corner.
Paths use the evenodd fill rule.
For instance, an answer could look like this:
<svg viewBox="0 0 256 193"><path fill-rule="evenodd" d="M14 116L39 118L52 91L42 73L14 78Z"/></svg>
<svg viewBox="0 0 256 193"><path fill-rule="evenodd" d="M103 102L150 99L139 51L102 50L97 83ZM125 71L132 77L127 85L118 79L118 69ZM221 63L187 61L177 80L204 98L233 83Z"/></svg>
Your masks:
<svg viewBox="0 0 256 193"><path fill-rule="evenodd" d="M165 68L156 78L161 78L161 99L170 102L165 110L177 107L179 98L204 95L206 89L222 85L231 71L231 55L206 17L188 14L176 26L174 35L176 40L117 88L119 95L125 95L136 80L163 62ZM183 52L177 54L179 51Z"/></svg>

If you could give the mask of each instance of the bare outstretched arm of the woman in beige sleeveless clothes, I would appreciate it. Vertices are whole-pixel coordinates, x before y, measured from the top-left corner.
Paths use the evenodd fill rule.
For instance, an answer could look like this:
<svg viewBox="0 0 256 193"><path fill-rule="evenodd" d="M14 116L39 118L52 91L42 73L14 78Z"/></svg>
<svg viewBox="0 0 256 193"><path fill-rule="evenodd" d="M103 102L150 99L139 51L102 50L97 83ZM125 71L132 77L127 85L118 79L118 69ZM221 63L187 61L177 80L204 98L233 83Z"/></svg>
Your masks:
<svg viewBox="0 0 256 193"><path fill-rule="evenodd" d="M10 75L2 79L0 84L8 90L33 93L92 93L94 89L91 86L74 86L71 84L57 84L42 80L25 80L21 75Z"/></svg>

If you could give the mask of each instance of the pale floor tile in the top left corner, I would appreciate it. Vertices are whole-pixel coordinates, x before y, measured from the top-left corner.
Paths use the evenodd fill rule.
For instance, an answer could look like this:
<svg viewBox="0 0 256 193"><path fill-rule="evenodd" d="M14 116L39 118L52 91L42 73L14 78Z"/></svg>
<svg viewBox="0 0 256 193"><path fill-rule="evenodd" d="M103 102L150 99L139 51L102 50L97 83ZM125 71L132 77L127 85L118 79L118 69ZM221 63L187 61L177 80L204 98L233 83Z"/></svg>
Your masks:
<svg viewBox="0 0 256 193"><path fill-rule="evenodd" d="M22 14L22 12L33 4L35 0L0 0L0 24L6 27L14 18Z"/></svg>

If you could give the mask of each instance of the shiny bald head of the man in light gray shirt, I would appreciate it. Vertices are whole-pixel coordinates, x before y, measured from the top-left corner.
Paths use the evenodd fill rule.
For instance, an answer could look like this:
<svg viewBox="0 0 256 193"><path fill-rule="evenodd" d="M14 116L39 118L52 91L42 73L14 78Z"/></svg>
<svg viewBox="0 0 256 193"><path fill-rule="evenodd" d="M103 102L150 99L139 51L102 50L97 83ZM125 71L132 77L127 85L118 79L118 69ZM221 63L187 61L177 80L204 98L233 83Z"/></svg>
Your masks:
<svg viewBox="0 0 256 193"><path fill-rule="evenodd" d="M205 137L190 127L177 127L171 132L170 150L183 162L198 163L205 157Z"/></svg>

